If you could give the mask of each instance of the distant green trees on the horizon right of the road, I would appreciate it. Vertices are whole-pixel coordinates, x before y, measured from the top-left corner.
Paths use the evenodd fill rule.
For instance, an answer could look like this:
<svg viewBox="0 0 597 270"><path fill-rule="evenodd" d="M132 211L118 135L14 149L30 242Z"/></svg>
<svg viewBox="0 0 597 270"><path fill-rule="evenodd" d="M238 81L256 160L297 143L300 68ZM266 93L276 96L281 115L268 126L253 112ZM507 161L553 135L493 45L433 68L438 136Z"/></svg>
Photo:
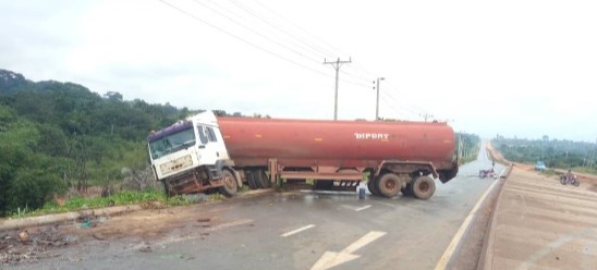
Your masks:
<svg viewBox="0 0 597 270"><path fill-rule="evenodd" d="M491 144L505 159L535 164L544 161L550 169L572 169L577 172L597 174L597 148L595 144L572 140L519 139L498 136Z"/></svg>

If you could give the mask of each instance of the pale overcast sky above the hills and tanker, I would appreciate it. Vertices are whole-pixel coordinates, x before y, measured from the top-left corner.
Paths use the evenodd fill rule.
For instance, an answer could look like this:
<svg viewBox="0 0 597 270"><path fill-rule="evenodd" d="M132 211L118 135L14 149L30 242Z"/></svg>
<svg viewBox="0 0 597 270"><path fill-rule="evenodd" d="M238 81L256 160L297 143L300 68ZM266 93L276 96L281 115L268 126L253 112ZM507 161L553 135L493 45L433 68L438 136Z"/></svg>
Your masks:
<svg viewBox="0 0 597 270"><path fill-rule="evenodd" d="M190 109L597 138L597 1L0 0L0 69Z"/></svg>

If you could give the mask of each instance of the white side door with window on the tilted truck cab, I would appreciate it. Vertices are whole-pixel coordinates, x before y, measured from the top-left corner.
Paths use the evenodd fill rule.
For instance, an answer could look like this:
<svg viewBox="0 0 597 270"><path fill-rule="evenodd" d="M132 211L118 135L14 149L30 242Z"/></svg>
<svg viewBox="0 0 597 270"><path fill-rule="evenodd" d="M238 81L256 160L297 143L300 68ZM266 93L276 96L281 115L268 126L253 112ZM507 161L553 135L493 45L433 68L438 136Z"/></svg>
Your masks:
<svg viewBox="0 0 597 270"><path fill-rule="evenodd" d="M228 159L228 152L219 132L219 128L214 126L197 125L199 164L214 165L219 159Z"/></svg>

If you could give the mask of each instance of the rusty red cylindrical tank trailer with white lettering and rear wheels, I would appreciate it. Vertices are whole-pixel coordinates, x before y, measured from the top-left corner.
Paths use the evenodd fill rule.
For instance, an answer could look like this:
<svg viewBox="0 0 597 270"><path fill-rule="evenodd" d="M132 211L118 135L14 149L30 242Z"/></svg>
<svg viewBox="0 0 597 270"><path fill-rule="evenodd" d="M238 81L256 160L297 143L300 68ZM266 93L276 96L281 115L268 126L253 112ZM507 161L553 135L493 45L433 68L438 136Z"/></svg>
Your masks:
<svg viewBox="0 0 597 270"><path fill-rule="evenodd" d="M318 186L363 175L375 195L429 198L434 179L458 173L454 132L446 123L218 118L230 159L249 186L280 179L316 180ZM269 171L272 177L265 173Z"/></svg>

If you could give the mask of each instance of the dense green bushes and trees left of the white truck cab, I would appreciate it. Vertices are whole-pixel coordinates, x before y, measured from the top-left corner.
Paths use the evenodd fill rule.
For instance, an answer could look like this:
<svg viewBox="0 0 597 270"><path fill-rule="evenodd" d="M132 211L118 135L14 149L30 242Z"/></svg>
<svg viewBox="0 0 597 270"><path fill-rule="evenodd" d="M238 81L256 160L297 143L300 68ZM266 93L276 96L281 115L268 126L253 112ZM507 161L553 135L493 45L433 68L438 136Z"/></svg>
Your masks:
<svg viewBox="0 0 597 270"><path fill-rule="evenodd" d="M42 208L66 192L76 197L89 186L110 193L158 186L147 170L145 138L190 113L0 70L0 216Z"/></svg>

